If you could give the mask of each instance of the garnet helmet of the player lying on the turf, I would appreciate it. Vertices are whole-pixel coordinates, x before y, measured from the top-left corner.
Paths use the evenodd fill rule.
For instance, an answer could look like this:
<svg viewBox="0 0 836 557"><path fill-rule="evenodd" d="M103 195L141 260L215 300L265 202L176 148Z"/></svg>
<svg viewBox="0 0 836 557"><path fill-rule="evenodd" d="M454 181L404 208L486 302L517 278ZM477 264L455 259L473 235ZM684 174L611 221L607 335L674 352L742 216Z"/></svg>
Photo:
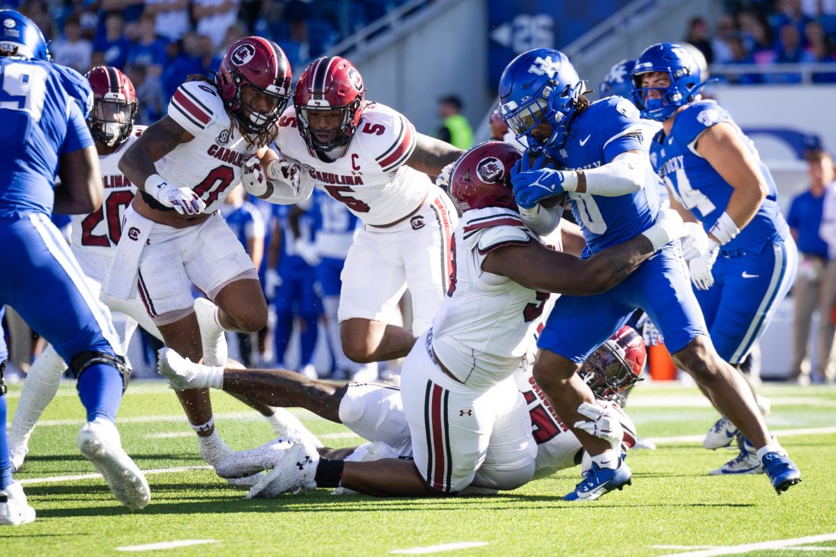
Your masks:
<svg viewBox="0 0 836 557"><path fill-rule="evenodd" d="M578 373L596 397L609 400L641 381L645 359L641 335L625 325L589 355Z"/></svg>

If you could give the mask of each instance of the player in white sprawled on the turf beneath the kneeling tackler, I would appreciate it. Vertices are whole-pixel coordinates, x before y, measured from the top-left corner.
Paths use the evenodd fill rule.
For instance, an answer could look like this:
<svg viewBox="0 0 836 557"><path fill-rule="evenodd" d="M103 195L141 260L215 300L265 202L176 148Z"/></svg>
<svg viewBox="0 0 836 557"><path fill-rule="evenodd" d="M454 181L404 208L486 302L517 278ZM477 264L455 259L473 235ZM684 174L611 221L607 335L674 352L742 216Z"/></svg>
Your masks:
<svg viewBox="0 0 836 557"><path fill-rule="evenodd" d="M536 352L534 339L528 357ZM528 409L529 427L537 443L534 479L558 470L573 467L582 461L584 448L548 402L543 390L534 381L528 357L514 372L517 390L523 394ZM624 430L620 450L635 445L635 426L620 409L620 392L639 381L645 365L645 345L630 327L622 327L593 352L579 369L579 375L592 388L601 404L619 419ZM334 423L342 423L361 438L367 439L359 448L318 449L325 458L349 461L410 458L412 445L406 422L400 388L379 383L349 382L342 385L308 379L282 369L221 369L186 362L176 352L161 352L159 370L177 389L195 386L222 389L233 395L256 399L278 407L300 407ZM307 430L298 431L313 438ZM376 447L373 445L377 443ZM275 442L260 448L233 453L223 459L219 470L228 475L248 475L269 466L275 457ZM380 450L383 448L384 450ZM381 456L381 454L383 456ZM261 466L262 468L258 468Z"/></svg>

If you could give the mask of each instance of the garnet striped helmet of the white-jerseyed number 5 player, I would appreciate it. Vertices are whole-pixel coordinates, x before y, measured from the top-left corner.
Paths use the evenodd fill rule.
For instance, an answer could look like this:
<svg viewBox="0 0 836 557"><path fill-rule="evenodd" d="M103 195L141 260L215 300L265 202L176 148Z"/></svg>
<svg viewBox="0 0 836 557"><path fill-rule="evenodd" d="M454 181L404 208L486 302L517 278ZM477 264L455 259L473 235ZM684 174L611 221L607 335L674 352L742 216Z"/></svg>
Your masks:
<svg viewBox="0 0 836 557"><path fill-rule="evenodd" d="M293 106L299 134L311 149L329 151L348 144L362 116L365 86L357 68L345 58L324 56L312 62L299 77ZM334 127L312 129L314 113L338 111Z"/></svg>

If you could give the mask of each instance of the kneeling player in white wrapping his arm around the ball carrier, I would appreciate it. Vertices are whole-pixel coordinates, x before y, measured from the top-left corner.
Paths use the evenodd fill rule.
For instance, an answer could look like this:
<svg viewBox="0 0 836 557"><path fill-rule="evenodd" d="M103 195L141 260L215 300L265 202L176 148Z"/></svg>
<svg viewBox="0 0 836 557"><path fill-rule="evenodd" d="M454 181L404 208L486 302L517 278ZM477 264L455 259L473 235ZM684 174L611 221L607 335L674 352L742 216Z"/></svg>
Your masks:
<svg viewBox="0 0 836 557"><path fill-rule="evenodd" d="M464 211L453 237L450 286L432 327L404 362L401 400L412 462L344 463L294 444L252 496L336 487L372 495L439 495L514 489L533 477L536 445L512 373L528 351L548 292L606 291L642 261L684 234L665 211L630 241L586 260L549 250L528 230L509 182L521 154L489 142L465 154L451 174L451 195ZM617 418L588 404L585 432L619 442ZM350 464L350 465L349 465Z"/></svg>

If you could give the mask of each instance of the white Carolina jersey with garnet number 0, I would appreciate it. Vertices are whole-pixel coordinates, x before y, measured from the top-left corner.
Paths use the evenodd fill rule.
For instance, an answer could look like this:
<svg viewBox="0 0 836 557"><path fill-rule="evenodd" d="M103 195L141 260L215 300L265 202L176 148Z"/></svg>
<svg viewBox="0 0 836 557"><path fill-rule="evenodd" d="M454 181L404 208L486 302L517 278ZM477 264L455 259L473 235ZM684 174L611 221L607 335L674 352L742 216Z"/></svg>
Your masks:
<svg viewBox="0 0 836 557"><path fill-rule="evenodd" d="M188 81L176 89L168 104L168 116L194 136L166 154L155 165L171 185L195 191L206 203L205 214L215 212L228 193L241 183L241 164L257 145L247 149L247 139L224 109L212 84Z"/></svg>

